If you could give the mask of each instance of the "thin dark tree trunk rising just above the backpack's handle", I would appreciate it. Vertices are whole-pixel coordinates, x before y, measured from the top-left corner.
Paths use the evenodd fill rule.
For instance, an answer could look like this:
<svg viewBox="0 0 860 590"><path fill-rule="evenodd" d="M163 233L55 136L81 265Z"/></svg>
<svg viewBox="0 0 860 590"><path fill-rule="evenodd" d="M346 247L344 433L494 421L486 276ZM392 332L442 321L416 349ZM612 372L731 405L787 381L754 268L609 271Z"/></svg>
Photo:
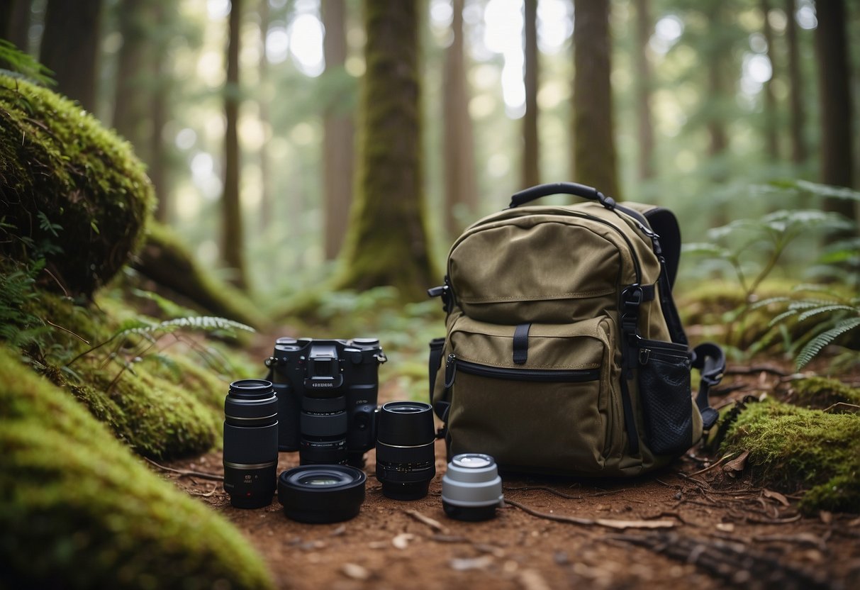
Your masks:
<svg viewBox="0 0 860 590"><path fill-rule="evenodd" d="M523 116L523 169L520 185L540 183L540 144L537 138L537 0L525 0L525 115Z"/></svg>

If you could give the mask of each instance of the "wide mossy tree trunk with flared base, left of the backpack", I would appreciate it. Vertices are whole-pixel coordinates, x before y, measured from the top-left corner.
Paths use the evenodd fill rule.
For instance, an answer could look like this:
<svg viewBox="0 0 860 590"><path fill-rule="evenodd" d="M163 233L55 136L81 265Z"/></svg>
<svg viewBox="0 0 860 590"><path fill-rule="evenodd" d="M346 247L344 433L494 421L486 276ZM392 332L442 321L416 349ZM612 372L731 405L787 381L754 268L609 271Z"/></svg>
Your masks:
<svg viewBox="0 0 860 590"><path fill-rule="evenodd" d="M427 298L433 270L421 179L418 10L421 3L365 0L358 193L335 288L395 286Z"/></svg>

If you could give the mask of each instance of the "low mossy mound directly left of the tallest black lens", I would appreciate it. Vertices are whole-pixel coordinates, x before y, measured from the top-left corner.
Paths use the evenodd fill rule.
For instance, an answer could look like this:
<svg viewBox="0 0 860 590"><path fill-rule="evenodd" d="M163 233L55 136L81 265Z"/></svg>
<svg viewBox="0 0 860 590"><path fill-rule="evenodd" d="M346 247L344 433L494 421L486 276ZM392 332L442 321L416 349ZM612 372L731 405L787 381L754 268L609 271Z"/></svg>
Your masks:
<svg viewBox="0 0 860 590"><path fill-rule="evenodd" d="M115 336L122 318L112 314L121 313L117 304L103 302L101 309L83 308L51 293L31 302L34 315L62 327L41 344L45 350L30 355L41 371L145 457L185 456L218 446L224 396L235 376L194 363L193 351L167 348L175 343L172 335L153 330ZM121 304L120 309L133 311ZM166 340L146 352L138 347L149 347L149 338L158 337Z"/></svg>

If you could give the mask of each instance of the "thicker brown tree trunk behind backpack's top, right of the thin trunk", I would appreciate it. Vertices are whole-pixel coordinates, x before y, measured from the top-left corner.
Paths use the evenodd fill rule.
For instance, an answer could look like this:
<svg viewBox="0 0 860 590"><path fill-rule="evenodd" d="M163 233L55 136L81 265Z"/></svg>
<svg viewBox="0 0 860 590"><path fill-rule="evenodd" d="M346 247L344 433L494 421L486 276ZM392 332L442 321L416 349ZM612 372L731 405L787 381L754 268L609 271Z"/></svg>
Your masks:
<svg viewBox="0 0 860 590"><path fill-rule="evenodd" d="M619 198L612 114L609 0L574 3L576 181Z"/></svg>

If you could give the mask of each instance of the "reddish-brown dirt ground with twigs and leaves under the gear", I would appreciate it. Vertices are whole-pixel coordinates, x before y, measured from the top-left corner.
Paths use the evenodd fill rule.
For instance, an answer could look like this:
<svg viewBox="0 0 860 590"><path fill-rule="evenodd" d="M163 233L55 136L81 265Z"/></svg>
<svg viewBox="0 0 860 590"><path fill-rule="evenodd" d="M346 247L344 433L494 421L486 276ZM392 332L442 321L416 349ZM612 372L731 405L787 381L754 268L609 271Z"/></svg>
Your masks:
<svg viewBox="0 0 860 590"><path fill-rule="evenodd" d="M759 389L772 377L735 378L727 389L742 392L740 379L753 378ZM637 480L504 478L511 502L482 523L445 516L441 440L436 457L429 495L394 501L369 452L359 516L330 525L287 519L277 496L265 508L230 507L220 482L176 472L223 474L219 452L159 471L237 525L279 588L860 587L860 516L802 517L799 495L757 487L695 450ZM279 472L296 464L298 453L280 453Z"/></svg>

